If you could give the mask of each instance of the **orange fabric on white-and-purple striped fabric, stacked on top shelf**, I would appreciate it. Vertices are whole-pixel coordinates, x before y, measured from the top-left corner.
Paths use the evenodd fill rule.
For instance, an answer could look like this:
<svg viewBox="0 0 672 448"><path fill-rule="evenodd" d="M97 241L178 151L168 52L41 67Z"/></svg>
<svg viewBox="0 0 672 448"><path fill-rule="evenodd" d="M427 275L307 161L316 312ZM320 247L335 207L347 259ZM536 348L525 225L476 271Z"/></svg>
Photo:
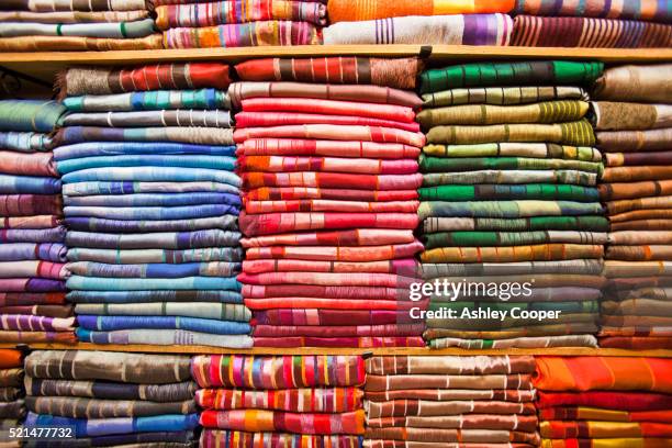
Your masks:
<svg viewBox="0 0 672 448"><path fill-rule="evenodd" d="M329 0L324 43L508 45L514 0Z"/></svg>

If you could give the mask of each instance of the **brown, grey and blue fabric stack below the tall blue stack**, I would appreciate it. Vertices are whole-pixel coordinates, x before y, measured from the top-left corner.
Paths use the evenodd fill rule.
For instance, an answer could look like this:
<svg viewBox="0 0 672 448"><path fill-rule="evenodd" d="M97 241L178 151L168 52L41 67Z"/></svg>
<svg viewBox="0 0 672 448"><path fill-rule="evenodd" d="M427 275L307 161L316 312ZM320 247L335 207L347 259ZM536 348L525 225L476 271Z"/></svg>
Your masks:
<svg viewBox="0 0 672 448"><path fill-rule="evenodd" d="M71 430L49 447L193 446L198 387L187 356L34 351L25 389L26 428Z"/></svg>

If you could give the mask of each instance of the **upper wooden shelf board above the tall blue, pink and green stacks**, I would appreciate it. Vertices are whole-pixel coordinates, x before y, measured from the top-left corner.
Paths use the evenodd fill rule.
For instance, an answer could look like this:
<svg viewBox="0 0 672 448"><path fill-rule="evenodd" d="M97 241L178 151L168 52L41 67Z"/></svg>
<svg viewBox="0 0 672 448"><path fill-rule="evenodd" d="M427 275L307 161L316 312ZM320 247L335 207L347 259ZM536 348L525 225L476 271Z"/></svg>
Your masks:
<svg viewBox="0 0 672 448"><path fill-rule="evenodd" d="M135 65L188 60L237 63L258 57L309 56L418 56L432 49L430 63L449 64L493 59L592 59L605 63L653 63L672 60L672 48L560 48L468 45L300 45L239 48L146 49L115 52L0 53L0 66L48 80L71 65Z"/></svg>

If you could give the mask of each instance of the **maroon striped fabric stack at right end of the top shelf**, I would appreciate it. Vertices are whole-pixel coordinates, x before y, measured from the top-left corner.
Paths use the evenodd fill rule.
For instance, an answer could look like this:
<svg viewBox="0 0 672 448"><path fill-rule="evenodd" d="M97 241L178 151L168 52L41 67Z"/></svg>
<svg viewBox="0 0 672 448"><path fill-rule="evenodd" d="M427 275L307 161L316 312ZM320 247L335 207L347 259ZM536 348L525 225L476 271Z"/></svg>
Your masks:
<svg viewBox="0 0 672 448"><path fill-rule="evenodd" d="M669 1L517 0L514 12L522 15L514 19L512 45L672 46L672 3Z"/></svg>

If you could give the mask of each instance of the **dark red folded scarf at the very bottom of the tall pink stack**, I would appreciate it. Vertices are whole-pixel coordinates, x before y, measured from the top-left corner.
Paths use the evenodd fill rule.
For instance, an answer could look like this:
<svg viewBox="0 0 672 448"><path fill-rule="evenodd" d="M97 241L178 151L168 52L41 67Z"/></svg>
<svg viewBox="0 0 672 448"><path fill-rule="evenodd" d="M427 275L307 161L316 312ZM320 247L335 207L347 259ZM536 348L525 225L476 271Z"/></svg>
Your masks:
<svg viewBox="0 0 672 448"><path fill-rule="evenodd" d="M299 348L299 347L335 347L335 348L387 348L387 347L425 347L421 336L411 337L256 337L256 347ZM326 414L329 415L329 414Z"/></svg>

